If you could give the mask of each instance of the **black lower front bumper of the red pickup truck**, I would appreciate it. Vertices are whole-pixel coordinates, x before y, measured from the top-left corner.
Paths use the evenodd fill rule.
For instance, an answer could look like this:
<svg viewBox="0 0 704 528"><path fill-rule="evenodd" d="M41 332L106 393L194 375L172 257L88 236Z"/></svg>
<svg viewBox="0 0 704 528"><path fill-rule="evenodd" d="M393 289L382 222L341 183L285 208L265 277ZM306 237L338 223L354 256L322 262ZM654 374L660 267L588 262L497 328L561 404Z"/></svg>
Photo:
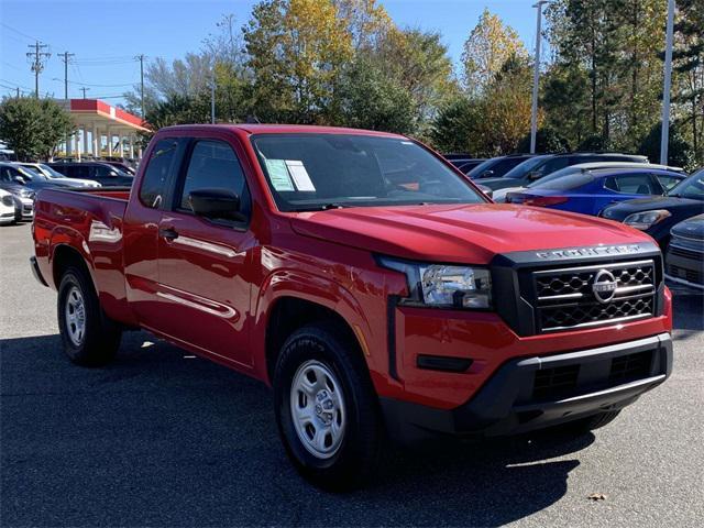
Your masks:
<svg viewBox="0 0 704 528"><path fill-rule="evenodd" d="M503 436L622 409L672 371L669 333L505 363L464 405L438 409L381 398L392 437Z"/></svg>

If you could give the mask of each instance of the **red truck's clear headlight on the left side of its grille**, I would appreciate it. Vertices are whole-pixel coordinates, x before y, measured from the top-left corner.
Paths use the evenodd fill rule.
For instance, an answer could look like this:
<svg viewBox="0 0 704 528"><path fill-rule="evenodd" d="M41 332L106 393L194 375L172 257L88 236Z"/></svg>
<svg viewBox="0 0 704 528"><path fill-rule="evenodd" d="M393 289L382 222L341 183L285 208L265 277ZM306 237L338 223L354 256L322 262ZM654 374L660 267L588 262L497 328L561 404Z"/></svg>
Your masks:
<svg viewBox="0 0 704 528"><path fill-rule="evenodd" d="M402 272L408 280L408 301L441 308L490 309L492 276L487 268L449 264L425 264L386 256L378 263Z"/></svg>

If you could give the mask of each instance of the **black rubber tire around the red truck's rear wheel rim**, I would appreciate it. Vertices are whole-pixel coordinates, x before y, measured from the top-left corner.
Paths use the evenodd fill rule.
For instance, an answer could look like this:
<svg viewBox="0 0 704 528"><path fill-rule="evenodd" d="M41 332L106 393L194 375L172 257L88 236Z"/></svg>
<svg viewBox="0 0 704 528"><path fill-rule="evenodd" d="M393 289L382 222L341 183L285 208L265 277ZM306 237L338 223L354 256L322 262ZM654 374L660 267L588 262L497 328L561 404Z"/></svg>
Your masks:
<svg viewBox="0 0 704 528"><path fill-rule="evenodd" d="M80 339L72 338L75 324L72 328L72 322L68 320L70 316L67 317L69 295L75 290L82 298L84 306L84 331ZM100 308L92 280L85 270L69 267L62 276L57 315L64 352L70 361L82 366L101 366L114 358L120 346L122 330Z"/></svg>

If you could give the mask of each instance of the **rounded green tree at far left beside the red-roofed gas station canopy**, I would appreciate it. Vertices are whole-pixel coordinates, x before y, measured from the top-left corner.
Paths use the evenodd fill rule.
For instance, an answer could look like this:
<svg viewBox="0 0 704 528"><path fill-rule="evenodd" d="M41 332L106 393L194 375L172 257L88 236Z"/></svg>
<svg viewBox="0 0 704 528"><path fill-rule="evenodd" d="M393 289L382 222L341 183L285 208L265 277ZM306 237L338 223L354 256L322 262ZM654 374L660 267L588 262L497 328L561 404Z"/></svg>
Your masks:
<svg viewBox="0 0 704 528"><path fill-rule="evenodd" d="M0 138L20 161L48 160L74 128L69 113L53 99L21 97L0 103Z"/></svg>

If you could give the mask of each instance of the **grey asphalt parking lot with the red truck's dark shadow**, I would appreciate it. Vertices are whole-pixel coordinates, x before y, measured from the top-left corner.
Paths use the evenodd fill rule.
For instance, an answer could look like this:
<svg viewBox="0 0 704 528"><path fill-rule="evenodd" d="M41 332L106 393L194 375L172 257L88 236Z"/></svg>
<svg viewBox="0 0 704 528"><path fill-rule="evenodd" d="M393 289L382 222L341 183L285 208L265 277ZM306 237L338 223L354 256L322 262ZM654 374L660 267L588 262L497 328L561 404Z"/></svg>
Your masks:
<svg viewBox="0 0 704 528"><path fill-rule="evenodd" d="M29 224L0 228L1 526L702 526L702 296L675 292L668 383L595 435L396 450L331 495L289 465L257 382L143 332L73 366L31 251Z"/></svg>

